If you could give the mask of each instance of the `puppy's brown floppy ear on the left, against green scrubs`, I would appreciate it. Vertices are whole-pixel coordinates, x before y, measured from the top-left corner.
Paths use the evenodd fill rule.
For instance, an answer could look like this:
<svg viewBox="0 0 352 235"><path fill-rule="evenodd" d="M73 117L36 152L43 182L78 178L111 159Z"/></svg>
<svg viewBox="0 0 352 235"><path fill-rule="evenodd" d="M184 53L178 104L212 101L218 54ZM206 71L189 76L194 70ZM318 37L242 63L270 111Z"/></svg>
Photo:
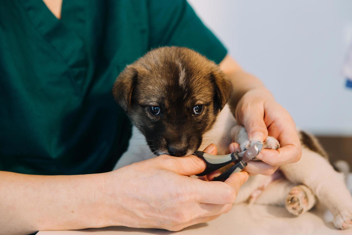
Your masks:
<svg viewBox="0 0 352 235"><path fill-rule="evenodd" d="M136 85L137 77L137 70L132 65L127 65L117 77L112 88L115 101L126 112L128 112L131 107L132 91Z"/></svg>

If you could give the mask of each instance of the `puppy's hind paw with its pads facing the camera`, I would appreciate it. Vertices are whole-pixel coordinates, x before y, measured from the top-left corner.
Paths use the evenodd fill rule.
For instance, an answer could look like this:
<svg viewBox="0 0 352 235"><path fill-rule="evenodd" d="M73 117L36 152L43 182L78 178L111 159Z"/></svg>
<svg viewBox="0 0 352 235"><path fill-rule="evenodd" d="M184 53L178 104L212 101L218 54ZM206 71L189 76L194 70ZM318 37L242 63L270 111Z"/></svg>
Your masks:
<svg viewBox="0 0 352 235"><path fill-rule="evenodd" d="M301 215L310 210L314 204L312 191L304 185L291 188L286 198L286 209L293 215Z"/></svg>

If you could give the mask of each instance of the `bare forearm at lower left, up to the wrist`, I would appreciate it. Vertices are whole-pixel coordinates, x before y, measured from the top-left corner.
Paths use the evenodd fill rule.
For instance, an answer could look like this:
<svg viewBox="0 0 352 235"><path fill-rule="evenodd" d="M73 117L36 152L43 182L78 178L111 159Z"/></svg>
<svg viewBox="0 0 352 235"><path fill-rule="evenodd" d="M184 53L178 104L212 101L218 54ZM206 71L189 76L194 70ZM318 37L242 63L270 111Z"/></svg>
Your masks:
<svg viewBox="0 0 352 235"><path fill-rule="evenodd" d="M25 175L0 171L4 234L103 227L104 175ZM1 232L1 233L2 233Z"/></svg>

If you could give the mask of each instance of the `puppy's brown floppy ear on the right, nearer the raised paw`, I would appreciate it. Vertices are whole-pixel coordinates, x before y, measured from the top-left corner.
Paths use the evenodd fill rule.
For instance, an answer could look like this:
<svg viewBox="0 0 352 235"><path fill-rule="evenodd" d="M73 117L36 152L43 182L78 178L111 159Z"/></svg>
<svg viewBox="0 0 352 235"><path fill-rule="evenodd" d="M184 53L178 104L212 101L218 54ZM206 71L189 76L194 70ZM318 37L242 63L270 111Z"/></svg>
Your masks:
<svg viewBox="0 0 352 235"><path fill-rule="evenodd" d="M210 80L212 81L215 89L214 104L216 105L216 108L222 110L231 97L232 84L230 80L228 80L225 73L219 68L211 73Z"/></svg>

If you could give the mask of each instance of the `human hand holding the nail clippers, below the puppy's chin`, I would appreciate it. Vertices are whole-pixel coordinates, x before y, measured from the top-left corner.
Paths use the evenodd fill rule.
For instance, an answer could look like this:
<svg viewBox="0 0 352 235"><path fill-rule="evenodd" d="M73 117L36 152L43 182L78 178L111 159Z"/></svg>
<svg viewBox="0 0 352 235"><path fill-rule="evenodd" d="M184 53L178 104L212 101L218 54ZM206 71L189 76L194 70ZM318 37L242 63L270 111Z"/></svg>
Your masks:
<svg viewBox="0 0 352 235"><path fill-rule="evenodd" d="M216 147L204 151L216 154ZM205 167L194 155L161 155L109 172L105 198L116 202L107 225L177 231L219 217L231 209L248 174L234 173L225 182L188 177Z"/></svg>

